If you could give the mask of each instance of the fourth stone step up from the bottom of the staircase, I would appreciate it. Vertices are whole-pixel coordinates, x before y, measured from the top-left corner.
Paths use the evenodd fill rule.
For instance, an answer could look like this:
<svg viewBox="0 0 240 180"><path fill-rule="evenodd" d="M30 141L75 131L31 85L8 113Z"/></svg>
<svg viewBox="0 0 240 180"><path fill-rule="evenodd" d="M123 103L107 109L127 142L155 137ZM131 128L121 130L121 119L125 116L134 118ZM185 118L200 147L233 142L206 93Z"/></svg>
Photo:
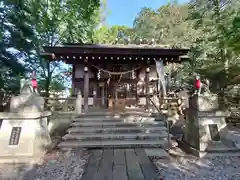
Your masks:
<svg viewBox="0 0 240 180"><path fill-rule="evenodd" d="M133 127L133 126L164 126L164 122L73 122L71 126L74 127Z"/></svg>

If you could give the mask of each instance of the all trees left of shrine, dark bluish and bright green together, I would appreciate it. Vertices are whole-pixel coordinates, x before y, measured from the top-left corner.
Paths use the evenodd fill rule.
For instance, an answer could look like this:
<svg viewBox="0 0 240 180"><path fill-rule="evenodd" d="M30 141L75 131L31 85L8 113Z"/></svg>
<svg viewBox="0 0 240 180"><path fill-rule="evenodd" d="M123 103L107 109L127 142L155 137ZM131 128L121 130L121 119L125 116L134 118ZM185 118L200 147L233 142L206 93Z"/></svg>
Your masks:
<svg viewBox="0 0 240 180"><path fill-rule="evenodd" d="M57 75L66 68L61 62L44 60L42 46L91 42L99 7L99 0L1 1L0 88L19 88L19 75L29 77L33 70L46 96L50 90L65 88Z"/></svg>

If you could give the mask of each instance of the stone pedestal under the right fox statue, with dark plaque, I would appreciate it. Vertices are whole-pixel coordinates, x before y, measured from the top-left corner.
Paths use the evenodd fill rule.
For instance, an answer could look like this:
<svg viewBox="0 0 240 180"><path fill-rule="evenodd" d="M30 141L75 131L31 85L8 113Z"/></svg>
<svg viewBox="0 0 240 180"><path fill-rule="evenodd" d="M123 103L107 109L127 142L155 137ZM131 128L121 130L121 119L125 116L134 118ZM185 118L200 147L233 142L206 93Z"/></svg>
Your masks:
<svg viewBox="0 0 240 180"><path fill-rule="evenodd" d="M226 116L227 113L219 110L217 95L193 95L189 98L184 141L195 155L204 155L212 144L225 138Z"/></svg>

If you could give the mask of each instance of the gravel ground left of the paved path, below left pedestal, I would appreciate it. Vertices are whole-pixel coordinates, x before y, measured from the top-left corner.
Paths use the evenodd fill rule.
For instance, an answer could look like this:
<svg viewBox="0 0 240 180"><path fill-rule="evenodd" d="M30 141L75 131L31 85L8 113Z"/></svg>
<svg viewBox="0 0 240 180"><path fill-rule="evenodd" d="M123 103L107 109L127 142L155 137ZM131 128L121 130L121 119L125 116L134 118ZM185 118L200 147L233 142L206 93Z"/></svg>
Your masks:
<svg viewBox="0 0 240 180"><path fill-rule="evenodd" d="M40 164L0 164L1 180L80 180L89 154L85 150L55 151Z"/></svg>

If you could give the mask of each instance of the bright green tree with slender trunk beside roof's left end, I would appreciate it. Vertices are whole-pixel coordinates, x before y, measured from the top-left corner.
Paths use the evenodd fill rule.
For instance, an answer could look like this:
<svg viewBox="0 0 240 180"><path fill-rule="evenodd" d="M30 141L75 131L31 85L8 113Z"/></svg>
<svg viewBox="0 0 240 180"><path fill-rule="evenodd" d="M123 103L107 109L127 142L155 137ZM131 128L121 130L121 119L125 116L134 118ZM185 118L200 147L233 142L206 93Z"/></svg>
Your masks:
<svg viewBox="0 0 240 180"><path fill-rule="evenodd" d="M95 10L99 7L97 0L58 0L37 1L32 4L36 14L33 22L36 30L35 39L35 63L33 69L37 69L41 77L45 79L44 89L49 95L51 81L54 74L64 71L61 62L46 61L40 57L41 47L56 46L62 43L83 43L92 39L92 32L96 26L94 18ZM57 79L54 80L55 82ZM56 84L56 83L55 83Z"/></svg>

